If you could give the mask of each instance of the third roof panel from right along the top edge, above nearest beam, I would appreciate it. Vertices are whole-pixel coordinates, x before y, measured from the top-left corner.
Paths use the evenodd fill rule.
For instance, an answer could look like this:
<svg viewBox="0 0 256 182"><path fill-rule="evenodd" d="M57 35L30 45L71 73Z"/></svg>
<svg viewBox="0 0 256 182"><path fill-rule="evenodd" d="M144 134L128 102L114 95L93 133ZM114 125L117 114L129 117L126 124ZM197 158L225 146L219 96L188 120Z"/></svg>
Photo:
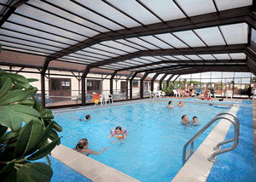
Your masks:
<svg viewBox="0 0 256 182"><path fill-rule="evenodd" d="M177 8L172 1L166 0L143 0L142 1L149 9L153 10L163 20L175 20L185 18L186 16Z"/></svg>

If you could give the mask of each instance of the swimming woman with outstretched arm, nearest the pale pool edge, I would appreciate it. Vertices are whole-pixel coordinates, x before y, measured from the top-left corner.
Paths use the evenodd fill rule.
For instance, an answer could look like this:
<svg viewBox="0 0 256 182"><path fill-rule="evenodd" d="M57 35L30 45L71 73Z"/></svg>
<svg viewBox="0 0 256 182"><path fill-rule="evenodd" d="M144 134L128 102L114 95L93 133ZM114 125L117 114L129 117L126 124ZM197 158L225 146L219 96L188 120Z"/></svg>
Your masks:
<svg viewBox="0 0 256 182"><path fill-rule="evenodd" d="M109 149L110 147L105 147L102 149L102 151L92 151L91 149L88 149L89 142L88 139L80 139L79 143L76 145L76 147L73 148L74 151L79 151L80 153L84 154L85 156L89 156L89 154L98 156L99 154L103 153L106 149Z"/></svg>

